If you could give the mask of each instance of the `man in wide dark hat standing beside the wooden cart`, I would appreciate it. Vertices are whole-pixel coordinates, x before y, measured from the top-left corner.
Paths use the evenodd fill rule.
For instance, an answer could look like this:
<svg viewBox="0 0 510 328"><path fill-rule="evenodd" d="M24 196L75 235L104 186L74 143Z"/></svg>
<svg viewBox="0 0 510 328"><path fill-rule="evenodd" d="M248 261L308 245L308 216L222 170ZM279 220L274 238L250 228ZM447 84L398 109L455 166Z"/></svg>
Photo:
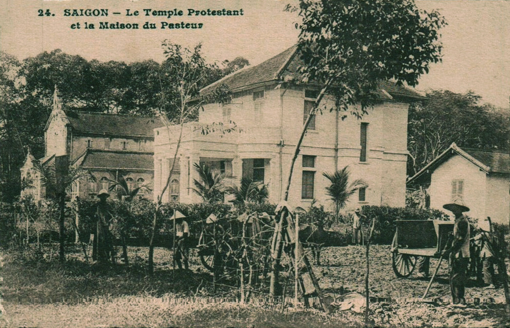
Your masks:
<svg viewBox="0 0 510 328"><path fill-rule="evenodd" d="M443 205L443 208L455 215L453 242L450 248L443 251L443 255L449 254L450 256L450 289L453 306L465 308L467 305L464 288L469 262L469 222L462 213L468 212L469 208L464 205L461 199L455 199L453 203Z"/></svg>

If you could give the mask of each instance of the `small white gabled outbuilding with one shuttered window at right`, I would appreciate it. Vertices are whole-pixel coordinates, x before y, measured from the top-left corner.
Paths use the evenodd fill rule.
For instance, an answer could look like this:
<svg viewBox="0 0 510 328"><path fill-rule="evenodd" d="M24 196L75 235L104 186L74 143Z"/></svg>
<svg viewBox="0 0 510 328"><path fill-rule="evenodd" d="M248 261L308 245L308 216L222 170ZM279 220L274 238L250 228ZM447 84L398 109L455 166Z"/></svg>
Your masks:
<svg viewBox="0 0 510 328"><path fill-rule="evenodd" d="M510 155L502 149L461 148L452 143L436 159L407 180L407 187L423 186L430 196L430 208L461 198L478 219L481 228L510 220ZM450 214L450 213L449 213Z"/></svg>

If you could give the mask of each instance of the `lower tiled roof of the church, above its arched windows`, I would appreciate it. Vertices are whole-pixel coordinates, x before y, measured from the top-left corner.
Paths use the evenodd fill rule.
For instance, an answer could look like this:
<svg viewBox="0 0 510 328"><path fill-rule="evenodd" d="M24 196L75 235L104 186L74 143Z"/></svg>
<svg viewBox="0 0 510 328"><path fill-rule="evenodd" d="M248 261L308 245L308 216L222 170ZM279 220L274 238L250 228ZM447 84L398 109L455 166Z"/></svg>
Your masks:
<svg viewBox="0 0 510 328"><path fill-rule="evenodd" d="M88 149L81 165L84 168L154 170L152 153Z"/></svg>

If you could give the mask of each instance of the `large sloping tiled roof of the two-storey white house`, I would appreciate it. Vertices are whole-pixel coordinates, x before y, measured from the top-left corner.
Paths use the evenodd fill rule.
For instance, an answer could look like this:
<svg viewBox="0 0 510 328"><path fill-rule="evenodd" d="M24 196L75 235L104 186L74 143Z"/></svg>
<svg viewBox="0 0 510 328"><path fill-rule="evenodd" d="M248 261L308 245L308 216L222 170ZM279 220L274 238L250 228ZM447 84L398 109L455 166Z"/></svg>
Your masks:
<svg viewBox="0 0 510 328"><path fill-rule="evenodd" d="M303 61L296 54L296 50L297 45L294 45L259 65L240 69L203 88L200 90L200 93L210 93L221 84L227 85L231 91L238 91L241 88L256 86L264 82L296 80L299 77L298 68L303 64ZM391 99L392 97L389 95L425 99L423 95L414 89L397 86L392 81L381 82L379 86L381 90L379 90L378 94L382 99ZM382 90L385 90L387 94Z"/></svg>

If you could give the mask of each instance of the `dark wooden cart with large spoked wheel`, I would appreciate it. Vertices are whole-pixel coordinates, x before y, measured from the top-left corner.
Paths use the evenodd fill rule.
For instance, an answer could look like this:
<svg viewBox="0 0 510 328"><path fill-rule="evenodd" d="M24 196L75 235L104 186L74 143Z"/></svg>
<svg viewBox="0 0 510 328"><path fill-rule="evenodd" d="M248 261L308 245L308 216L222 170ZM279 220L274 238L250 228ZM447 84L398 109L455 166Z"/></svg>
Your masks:
<svg viewBox="0 0 510 328"><path fill-rule="evenodd" d="M397 220L397 230L392 242L392 267L397 277L413 273L418 257L439 258L453 233L454 221ZM471 226L473 232L473 227ZM472 235L472 233L471 233ZM473 249L472 254L475 254ZM470 261L469 272L475 272Z"/></svg>

